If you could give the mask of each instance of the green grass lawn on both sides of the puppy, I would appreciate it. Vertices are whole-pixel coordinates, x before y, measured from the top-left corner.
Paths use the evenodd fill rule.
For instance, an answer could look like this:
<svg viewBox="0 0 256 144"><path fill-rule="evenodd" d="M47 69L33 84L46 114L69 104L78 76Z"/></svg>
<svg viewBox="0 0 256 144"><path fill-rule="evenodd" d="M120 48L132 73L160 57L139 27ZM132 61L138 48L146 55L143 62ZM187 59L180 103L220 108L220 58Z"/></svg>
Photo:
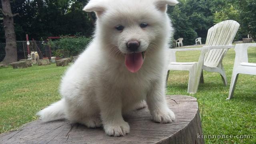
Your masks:
<svg viewBox="0 0 256 144"><path fill-rule="evenodd" d="M200 52L178 52L179 62L197 61ZM249 62L256 62L256 48L249 48ZM234 49L223 60L228 82L234 64ZM67 67L32 66L25 69L0 68L0 133L16 130L36 120L36 112L60 99L58 86ZM238 78L234 98L226 100L219 74L204 71L204 84L197 94L187 94L188 72L171 71L166 93L197 98L204 135L250 135L250 138L207 138L206 143L256 143L256 76Z"/></svg>

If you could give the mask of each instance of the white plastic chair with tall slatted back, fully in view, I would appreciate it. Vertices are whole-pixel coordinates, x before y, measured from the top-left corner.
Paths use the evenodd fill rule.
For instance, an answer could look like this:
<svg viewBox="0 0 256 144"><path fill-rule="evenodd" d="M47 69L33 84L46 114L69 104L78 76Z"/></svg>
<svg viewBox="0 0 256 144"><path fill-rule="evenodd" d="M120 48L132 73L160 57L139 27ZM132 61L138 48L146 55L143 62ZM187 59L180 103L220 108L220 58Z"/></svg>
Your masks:
<svg viewBox="0 0 256 144"><path fill-rule="evenodd" d="M188 70L188 93L196 93L199 82L204 83L202 70L208 72L218 72L222 77L224 85L227 85L226 74L222 66L222 59L232 46L232 41L236 36L240 24L234 20L220 22L208 30L206 44L202 48L178 48L170 49L170 63L168 65L168 74L170 70ZM201 50L198 62L176 62L177 51Z"/></svg>

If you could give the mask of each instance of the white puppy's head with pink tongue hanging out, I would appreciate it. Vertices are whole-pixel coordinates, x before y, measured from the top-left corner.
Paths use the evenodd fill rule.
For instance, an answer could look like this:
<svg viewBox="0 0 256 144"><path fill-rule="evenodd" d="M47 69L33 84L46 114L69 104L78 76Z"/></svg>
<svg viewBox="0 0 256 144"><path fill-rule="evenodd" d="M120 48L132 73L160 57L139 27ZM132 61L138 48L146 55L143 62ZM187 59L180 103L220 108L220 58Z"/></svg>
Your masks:
<svg viewBox="0 0 256 144"><path fill-rule="evenodd" d="M176 0L90 0L84 7L96 12L96 37L104 42L110 54L125 57L130 72L137 72L150 50L168 42L171 27L167 4Z"/></svg>

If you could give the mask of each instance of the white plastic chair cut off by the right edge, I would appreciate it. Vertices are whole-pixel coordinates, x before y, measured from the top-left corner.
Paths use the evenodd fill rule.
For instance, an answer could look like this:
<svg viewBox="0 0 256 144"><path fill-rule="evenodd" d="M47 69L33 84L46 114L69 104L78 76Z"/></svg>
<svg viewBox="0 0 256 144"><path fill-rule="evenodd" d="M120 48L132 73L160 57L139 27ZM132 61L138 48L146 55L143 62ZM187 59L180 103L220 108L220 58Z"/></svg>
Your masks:
<svg viewBox="0 0 256 144"><path fill-rule="evenodd" d="M236 58L235 58L232 78L230 82L229 94L227 98L228 100L232 98L234 95L236 81L238 79L239 74L256 75L256 63L248 62L247 50L251 46L256 47L256 44L236 44L236 47L235 47Z"/></svg>

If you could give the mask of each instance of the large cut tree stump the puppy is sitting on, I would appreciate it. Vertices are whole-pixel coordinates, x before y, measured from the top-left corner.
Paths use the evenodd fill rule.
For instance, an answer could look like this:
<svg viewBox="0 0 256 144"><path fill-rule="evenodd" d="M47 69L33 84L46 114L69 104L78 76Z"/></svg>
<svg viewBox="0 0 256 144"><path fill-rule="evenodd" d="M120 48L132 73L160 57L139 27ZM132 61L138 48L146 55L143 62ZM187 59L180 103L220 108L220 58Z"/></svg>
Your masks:
<svg viewBox="0 0 256 144"><path fill-rule="evenodd" d="M87 128L67 120L25 124L17 131L0 135L3 144L204 144L196 98L168 96L167 103L176 114L170 124L152 121L148 108L124 116L130 133L122 137L107 136L103 128Z"/></svg>

